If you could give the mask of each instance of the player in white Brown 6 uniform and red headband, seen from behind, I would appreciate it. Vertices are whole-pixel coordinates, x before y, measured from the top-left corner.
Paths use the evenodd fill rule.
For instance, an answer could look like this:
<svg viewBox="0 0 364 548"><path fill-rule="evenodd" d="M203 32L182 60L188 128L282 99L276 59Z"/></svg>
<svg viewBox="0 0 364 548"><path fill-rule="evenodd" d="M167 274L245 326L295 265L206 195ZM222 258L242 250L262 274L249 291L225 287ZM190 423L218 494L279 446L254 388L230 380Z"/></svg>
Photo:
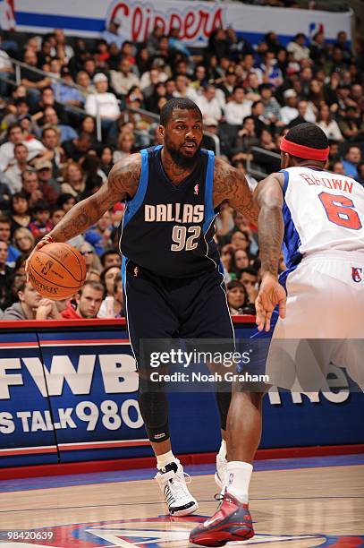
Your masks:
<svg viewBox="0 0 364 548"><path fill-rule="evenodd" d="M292 128L281 152L283 169L256 190L262 264L256 338L272 338L266 352L269 381L285 389L306 384L306 390L325 390L333 362L363 388L364 189L325 170L328 143L315 124ZM278 279L281 248L287 270ZM223 546L254 535L249 484L263 395L234 387L224 499L191 532L195 544Z"/></svg>

